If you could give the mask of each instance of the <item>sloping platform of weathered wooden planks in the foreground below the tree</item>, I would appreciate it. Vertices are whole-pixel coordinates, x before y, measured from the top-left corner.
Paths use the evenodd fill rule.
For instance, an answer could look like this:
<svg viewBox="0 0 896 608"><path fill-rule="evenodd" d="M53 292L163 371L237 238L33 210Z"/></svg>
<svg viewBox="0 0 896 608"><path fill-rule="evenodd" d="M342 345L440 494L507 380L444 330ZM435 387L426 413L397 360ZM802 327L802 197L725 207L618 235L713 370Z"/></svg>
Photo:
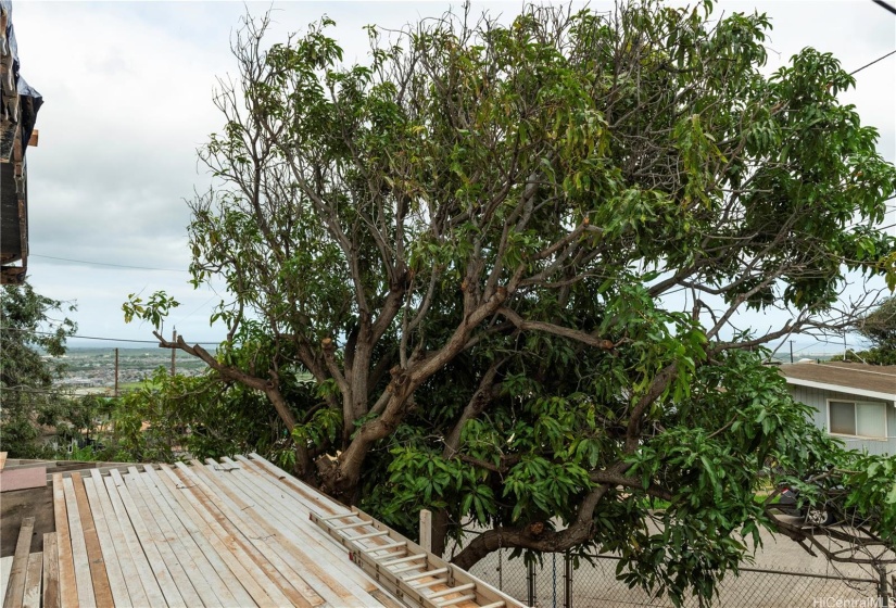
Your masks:
<svg viewBox="0 0 896 608"><path fill-rule="evenodd" d="M56 531L28 554L23 523L4 607L402 605L310 520L348 509L258 456L52 484Z"/></svg>

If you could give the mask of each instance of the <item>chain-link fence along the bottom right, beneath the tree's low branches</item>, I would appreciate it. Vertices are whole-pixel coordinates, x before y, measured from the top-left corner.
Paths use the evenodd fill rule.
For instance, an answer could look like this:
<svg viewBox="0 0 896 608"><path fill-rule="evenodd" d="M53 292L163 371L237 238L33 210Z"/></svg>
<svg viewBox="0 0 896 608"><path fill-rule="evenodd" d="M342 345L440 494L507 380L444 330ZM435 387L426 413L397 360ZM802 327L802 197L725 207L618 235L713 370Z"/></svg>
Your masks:
<svg viewBox="0 0 896 608"><path fill-rule="evenodd" d="M527 566L509 559L510 550L493 552L470 572L517 599L539 608L605 608L611 606L673 606L642 588L629 588L616 579L619 558L594 556L593 563L572 560L563 554L546 554L541 565ZM699 606L690 597L686 608ZM714 606L752 608L896 608L896 581L843 578L787 570L741 568L740 577L728 575L719 585Z"/></svg>

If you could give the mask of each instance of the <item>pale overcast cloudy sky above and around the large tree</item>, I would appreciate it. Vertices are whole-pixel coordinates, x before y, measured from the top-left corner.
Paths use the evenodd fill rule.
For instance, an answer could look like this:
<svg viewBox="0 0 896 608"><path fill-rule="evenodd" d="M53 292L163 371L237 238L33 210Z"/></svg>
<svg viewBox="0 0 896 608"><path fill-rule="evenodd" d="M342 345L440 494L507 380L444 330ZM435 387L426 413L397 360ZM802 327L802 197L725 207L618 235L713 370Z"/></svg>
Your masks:
<svg viewBox="0 0 896 608"><path fill-rule="evenodd" d="M13 0L22 74L46 101L39 147L28 151L30 282L75 302L85 337L150 340L147 325L125 325L121 305L129 293L161 289L181 302L166 333L174 325L189 341L218 341L224 329L207 321L218 295L187 282L185 199L210 181L195 150L220 127L212 91L216 76L234 71L229 39L240 16L273 5L275 40L326 13L353 61L365 59L363 25L400 27L459 3ZM474 12L513 15L520 5L477 3ZM896 15L871 0L732 1L720 9L769 14L769 69L804 47L833 52L848 71L896 49ZM896 55L856 77L858 88L844 101L880 129L881 153L896 161Z"/></svg>

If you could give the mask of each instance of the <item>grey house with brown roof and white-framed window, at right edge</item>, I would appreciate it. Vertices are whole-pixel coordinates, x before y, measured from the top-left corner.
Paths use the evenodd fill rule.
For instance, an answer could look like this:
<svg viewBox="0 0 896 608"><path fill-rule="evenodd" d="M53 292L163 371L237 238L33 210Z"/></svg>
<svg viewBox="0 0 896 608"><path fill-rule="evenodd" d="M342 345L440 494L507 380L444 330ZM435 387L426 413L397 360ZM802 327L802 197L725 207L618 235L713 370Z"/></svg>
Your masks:
<svg viewBox="0 0 896 608"><path fill-rule="evenodd" d="M850 449L896 454L896 365L782 365L791 394L815 408L815 422Z"/></svg>

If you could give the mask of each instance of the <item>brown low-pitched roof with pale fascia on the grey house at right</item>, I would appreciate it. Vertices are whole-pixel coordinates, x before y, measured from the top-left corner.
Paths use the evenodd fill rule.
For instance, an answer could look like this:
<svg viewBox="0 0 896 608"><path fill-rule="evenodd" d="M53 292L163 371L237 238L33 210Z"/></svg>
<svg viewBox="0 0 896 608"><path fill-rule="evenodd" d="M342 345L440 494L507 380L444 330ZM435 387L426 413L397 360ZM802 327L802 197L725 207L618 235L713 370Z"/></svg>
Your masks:
<svg viewBox="0 0 896 608"><path fill-rule="evenodd" d="M790 384L896 402L896 365L824 362L782 365Z"/></svg>

